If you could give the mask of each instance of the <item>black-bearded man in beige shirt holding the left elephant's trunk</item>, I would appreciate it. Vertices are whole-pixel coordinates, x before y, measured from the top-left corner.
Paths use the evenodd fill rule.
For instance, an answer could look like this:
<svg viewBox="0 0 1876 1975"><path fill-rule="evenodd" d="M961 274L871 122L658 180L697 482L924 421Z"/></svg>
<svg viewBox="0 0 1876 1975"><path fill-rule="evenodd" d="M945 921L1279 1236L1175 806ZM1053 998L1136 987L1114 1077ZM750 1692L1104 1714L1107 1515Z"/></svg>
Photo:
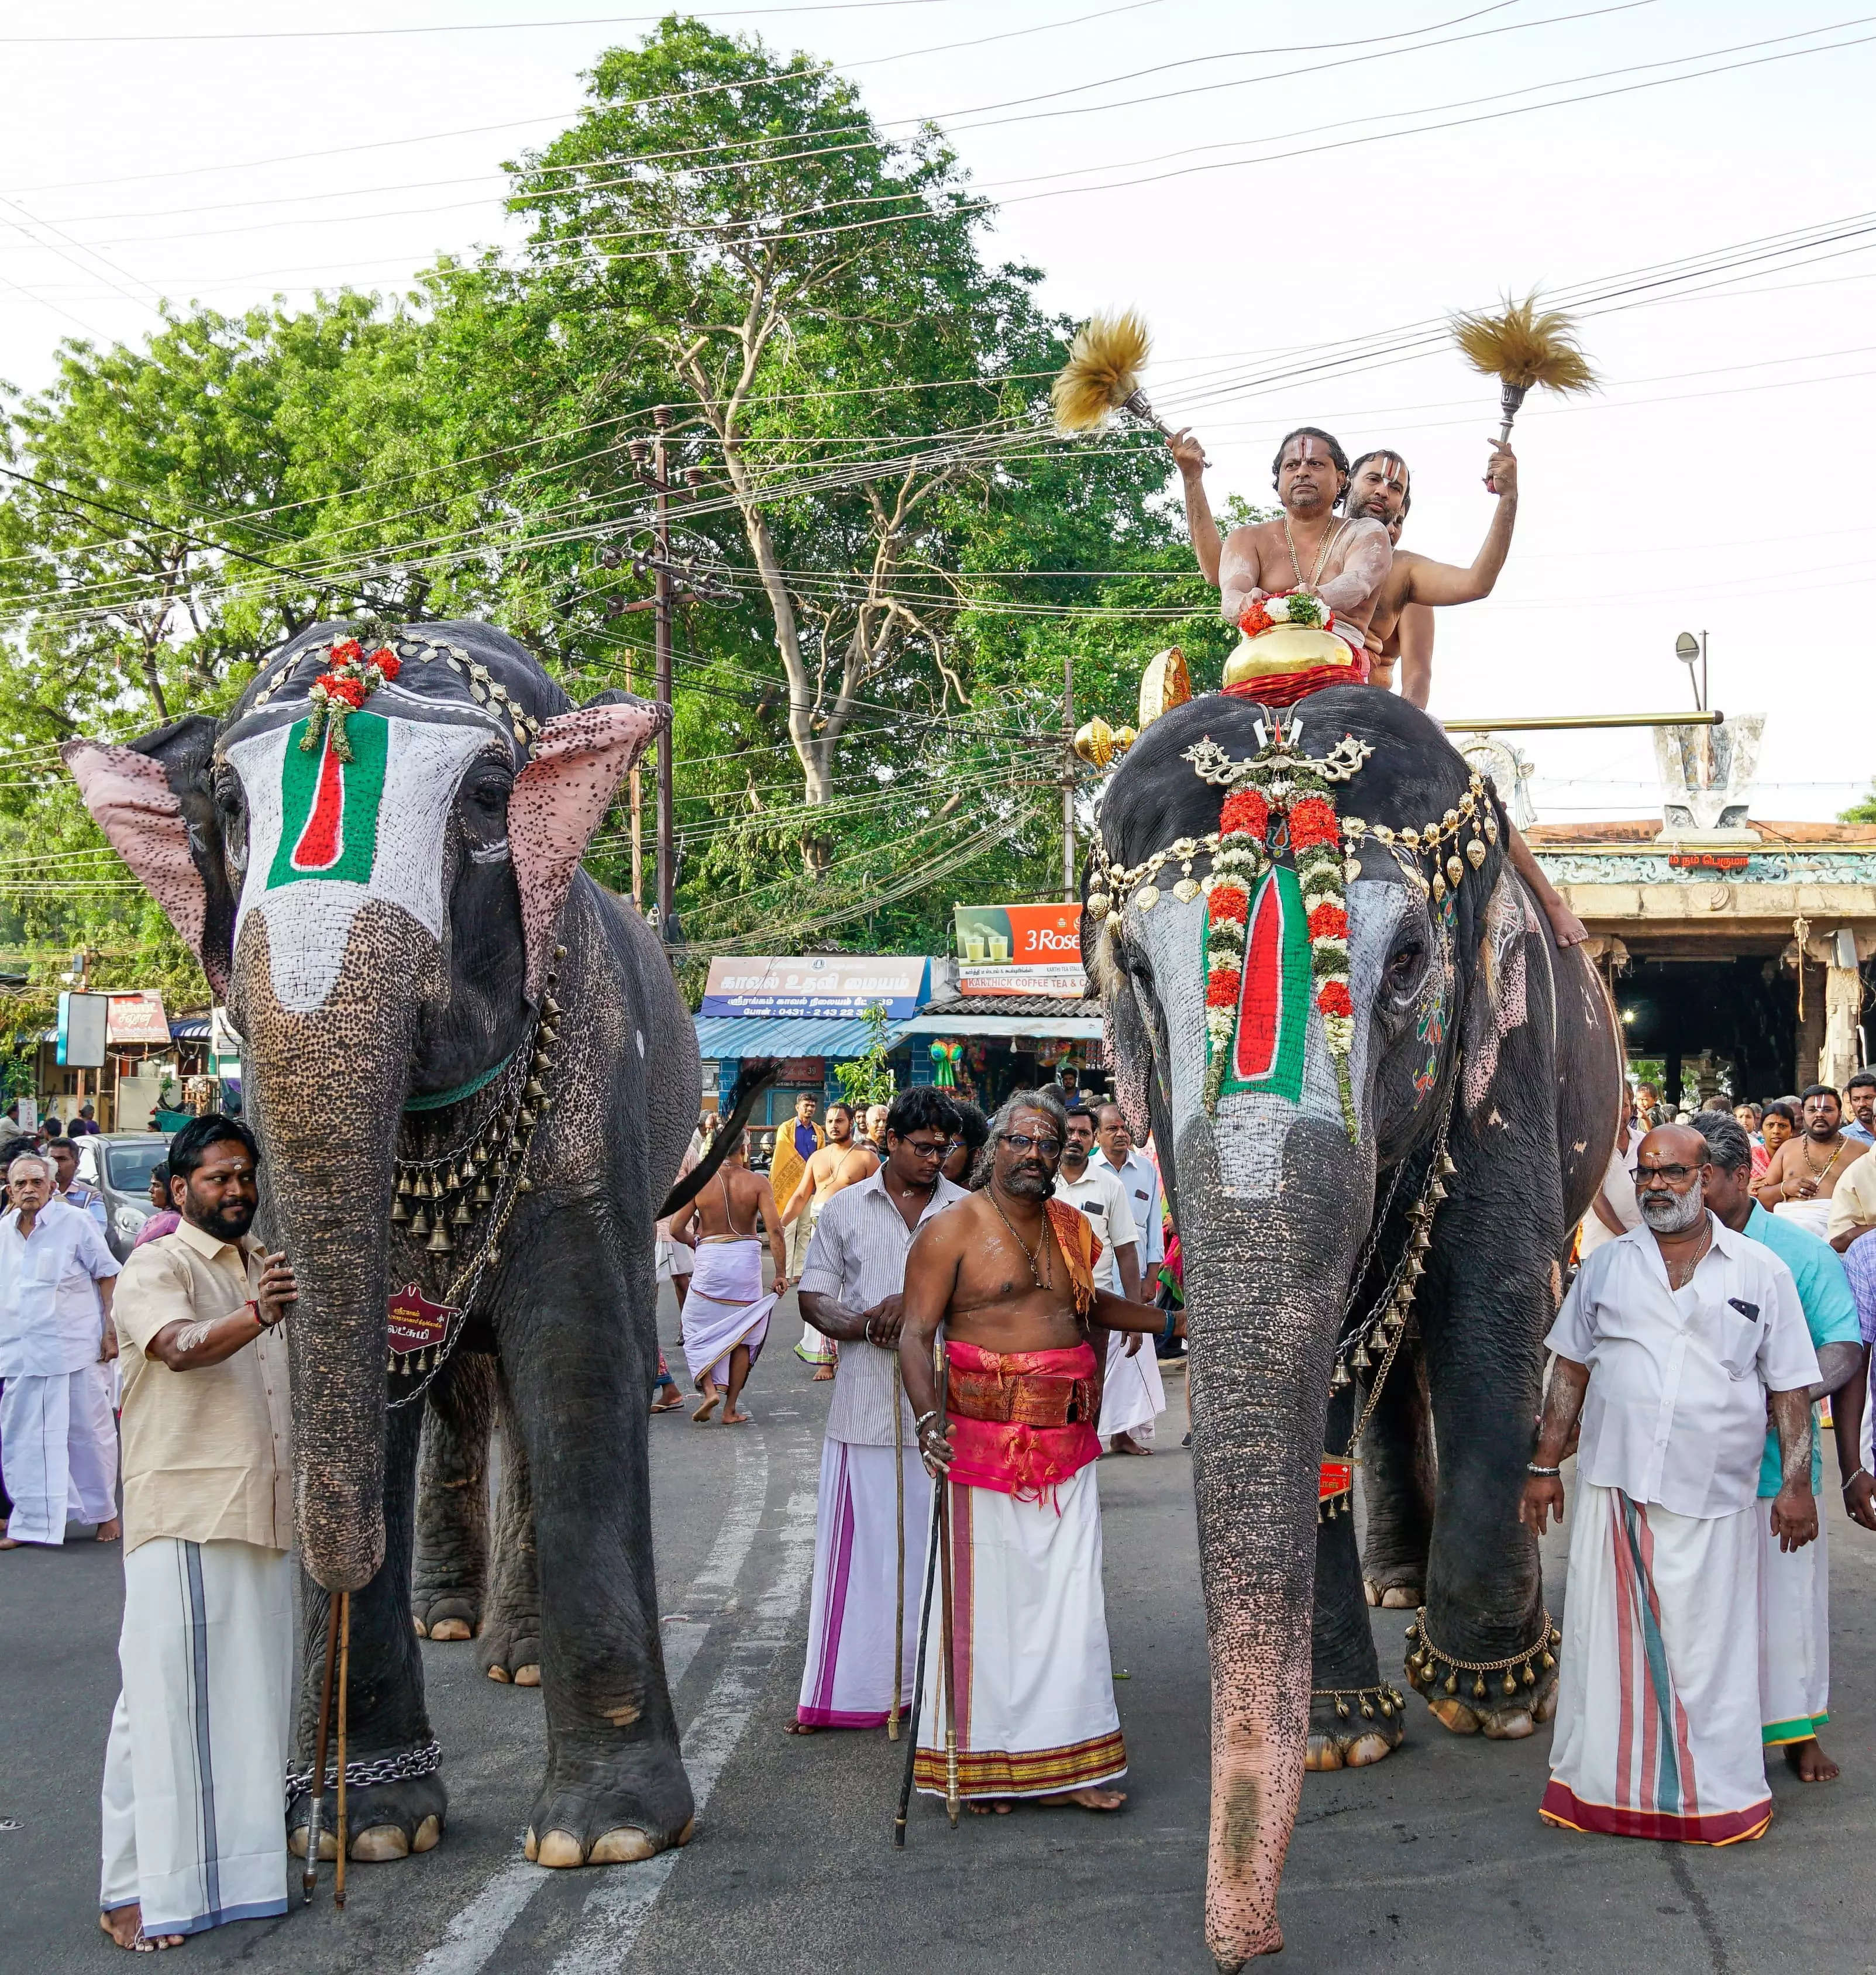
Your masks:
<svg viewBox="0 0 1876 1975"><path fill-rule="evenodd" d="M122 1689L105 1750L99 1926L176 1947L286 1912L292 1465L284 1256L249 1236L261 1151L233 1118L170 1146L174 1234L117 1290Z"/></svg>

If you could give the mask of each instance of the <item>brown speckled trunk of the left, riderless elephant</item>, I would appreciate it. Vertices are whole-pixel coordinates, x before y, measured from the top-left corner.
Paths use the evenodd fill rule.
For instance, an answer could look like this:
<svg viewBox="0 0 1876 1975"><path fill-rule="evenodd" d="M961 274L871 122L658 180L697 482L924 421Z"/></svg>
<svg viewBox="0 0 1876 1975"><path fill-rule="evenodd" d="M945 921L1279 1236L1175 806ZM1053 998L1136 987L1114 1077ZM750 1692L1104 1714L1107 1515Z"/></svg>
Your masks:
<svg viewBox="0 0 1876 1975"><path fill-rule="evenodd" d="M294 1531L312 1578L342 1592L369 1584L385 1556L385 1250L411 1049L440 956L415 920L371 901L338 978L296 1007L312 995L294 993L292 930L273 928L271 942L249 916L235 1013L269 1232L298 1284Z"/></svg>

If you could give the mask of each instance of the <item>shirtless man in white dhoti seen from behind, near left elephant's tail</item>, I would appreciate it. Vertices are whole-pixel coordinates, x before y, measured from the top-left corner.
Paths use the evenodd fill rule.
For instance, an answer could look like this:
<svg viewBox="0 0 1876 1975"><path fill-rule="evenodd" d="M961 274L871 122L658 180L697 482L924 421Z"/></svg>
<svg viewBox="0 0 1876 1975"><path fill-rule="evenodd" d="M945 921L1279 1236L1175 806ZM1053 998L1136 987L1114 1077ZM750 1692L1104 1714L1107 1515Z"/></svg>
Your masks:
<svg viewBox="0 0 1876 1975"><path fill-rule="evenodd" d="M762 1236L768 1230L776 1282L762 1294ZM743 1384L754 1369L768 1337L768 1313L788 1290L788 1248L776 1197L762 1173L748 1169L748 1140L717 1167L717 1179L691 1203L685 1223L697 1248L691 1294L683 1305L683 1355L703 1404L691 1414L697 1426L723 1404L723 1424L743 1426L737 1408ZM725 1390L727 1386L727 1390Z"/></svg>

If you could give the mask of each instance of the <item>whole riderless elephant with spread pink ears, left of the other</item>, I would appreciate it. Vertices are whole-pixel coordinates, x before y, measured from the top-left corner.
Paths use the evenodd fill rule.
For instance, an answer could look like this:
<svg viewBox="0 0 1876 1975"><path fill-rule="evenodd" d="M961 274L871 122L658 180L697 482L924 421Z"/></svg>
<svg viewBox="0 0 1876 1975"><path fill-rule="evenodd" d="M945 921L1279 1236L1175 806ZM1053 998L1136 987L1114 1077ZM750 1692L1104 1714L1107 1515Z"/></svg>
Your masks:
<svg viewBox="0 0 1876 1975"><path fill-rule="evenodd" d="M646 1396L654 1217L695 1122L697 1043L656 934L579 869L667 725L624 693L575 707L486 624L324 624L223 721L63 750L245 1039L261 1221L300 1284L298 1760L310 1776L328 1596L346 1590L353 1856L442 1833L411 1610L419 1434L430 1410L427 1471L474 1483L468 1503L498 1404L496 1651L539 1665L547 1712L527 1855L644 1858L691 1829ZM454 1511L462 1554L478 1515ZM454 1586L472 1610L476 1562Z"/></svg>

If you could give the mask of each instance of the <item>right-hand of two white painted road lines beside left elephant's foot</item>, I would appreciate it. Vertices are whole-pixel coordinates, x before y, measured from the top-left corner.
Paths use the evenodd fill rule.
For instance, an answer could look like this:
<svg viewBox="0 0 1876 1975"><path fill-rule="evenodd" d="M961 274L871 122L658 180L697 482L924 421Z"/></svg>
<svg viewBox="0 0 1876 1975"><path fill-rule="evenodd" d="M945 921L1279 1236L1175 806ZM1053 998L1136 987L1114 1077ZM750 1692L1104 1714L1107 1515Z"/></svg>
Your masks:
<svg viewBox="0 0 1876 1975"><path fill-rule="evenodd" d="M780 1529L780 1564L774 1582L756 1600L750 1623L737 1633L729 1661L683 1738L683 1766L691 1778L697 1813L703 1815L717 1778L748 1730L788 1627L802 1608L814 1572L816 1475L802 1465ZM594 1886L581 1914L579 1932L553 1963L553 1975L612 1975L622 1969L652 1916L681 1851L660 1853L636 1866L616 1866Z"/></svg>

